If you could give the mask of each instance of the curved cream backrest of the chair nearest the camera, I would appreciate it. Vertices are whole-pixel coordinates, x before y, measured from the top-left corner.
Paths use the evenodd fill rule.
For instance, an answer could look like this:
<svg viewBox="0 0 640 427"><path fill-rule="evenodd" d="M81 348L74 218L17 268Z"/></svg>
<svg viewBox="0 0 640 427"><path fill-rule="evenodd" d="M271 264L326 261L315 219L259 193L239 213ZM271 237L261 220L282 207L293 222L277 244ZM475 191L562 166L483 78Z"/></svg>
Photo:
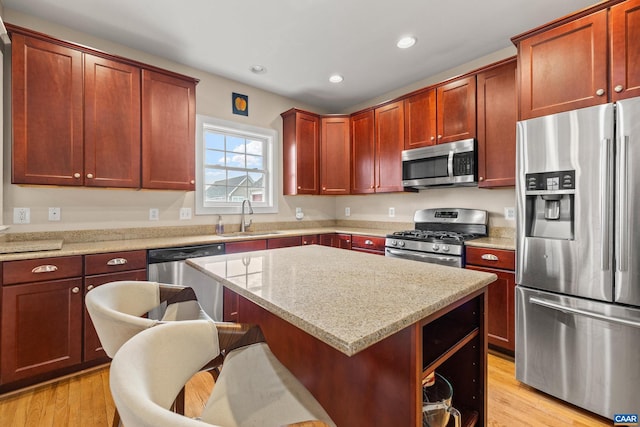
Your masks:
<svg viewBox="0 0 640 427"><path fill-rule="evenodd" d="M202 421L171 412L184 384L219 351L212 321L169 322L127 341L111 363L110 386L129 427L197 427Z"/></svg>

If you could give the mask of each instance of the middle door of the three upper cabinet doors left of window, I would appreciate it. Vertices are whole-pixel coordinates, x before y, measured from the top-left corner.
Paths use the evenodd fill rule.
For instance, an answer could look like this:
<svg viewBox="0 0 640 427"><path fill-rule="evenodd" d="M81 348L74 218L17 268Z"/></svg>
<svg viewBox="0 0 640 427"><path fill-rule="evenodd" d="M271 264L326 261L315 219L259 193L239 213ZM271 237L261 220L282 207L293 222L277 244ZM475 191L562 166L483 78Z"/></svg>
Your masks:
<svg viewBox="0 0 640 427"><path fill-rule="evenodd" d="M85 54L84 183L140 187L140 69Z"/></svg>

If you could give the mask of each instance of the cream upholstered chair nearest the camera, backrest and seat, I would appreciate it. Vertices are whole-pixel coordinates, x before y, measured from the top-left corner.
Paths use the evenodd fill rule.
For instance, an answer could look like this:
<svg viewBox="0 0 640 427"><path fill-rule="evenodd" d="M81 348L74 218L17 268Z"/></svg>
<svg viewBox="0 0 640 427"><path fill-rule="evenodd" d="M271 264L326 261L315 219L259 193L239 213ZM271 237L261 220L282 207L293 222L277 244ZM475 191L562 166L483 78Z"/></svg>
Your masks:
<svg viewBox="0 0 640 427"><path fill-rule="evenodd" d="M126 427L335 426L265 343L226 354L198 419L169 410L193 374L220 353L210 321L171 322L127 341L111 365L110 385Z"/></svg>

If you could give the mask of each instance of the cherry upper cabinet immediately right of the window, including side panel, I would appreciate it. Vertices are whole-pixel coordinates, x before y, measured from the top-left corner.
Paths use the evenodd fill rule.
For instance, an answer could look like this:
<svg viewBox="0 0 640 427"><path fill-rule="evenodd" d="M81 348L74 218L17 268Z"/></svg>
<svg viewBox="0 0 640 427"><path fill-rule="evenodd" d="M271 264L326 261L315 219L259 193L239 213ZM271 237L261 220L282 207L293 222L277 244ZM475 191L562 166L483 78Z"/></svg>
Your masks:
<svg viewBox="0 0 640 427"><path fill-rule="evenodd" d="M295 108L281 116L283 194L318 194L320 117Z"/></svg>

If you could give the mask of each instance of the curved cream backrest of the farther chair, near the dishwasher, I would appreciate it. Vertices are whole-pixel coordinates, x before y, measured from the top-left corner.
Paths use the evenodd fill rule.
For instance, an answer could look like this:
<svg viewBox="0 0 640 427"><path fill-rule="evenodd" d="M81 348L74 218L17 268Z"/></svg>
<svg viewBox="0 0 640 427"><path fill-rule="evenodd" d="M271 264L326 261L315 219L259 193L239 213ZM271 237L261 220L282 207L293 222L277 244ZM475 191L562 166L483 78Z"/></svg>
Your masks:
<svg viewBox="0 0 640 427"><path fill-rule="evenodd" d="M158 323L140 316L160 304L160 284L144 281L105 283L87 292L85 304L102 347L113 358L131 337Z"/></svg>

